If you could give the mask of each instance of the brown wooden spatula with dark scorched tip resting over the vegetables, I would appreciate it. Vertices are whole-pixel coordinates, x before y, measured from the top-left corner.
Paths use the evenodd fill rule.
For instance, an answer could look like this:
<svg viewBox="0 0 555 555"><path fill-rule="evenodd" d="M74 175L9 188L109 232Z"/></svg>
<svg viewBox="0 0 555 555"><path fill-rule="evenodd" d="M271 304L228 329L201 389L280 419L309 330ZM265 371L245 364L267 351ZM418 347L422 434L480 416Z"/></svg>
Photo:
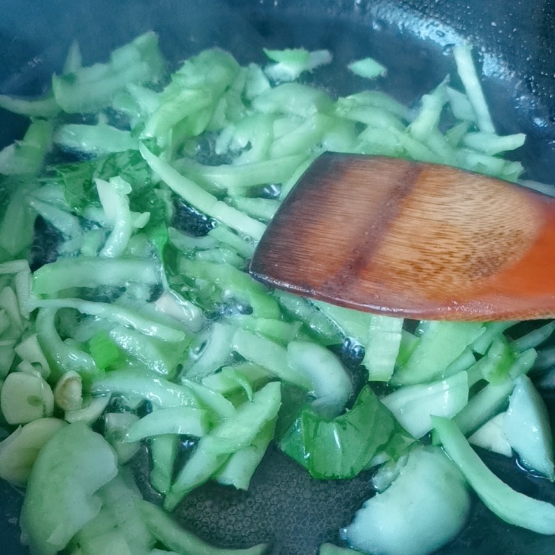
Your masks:
<svg viewBox="0 0 555 555"><path fill-rule="evenodd" d="M555 199L436 164L325 153L250 273L343 307L436 320L555 316Z"/></svg>

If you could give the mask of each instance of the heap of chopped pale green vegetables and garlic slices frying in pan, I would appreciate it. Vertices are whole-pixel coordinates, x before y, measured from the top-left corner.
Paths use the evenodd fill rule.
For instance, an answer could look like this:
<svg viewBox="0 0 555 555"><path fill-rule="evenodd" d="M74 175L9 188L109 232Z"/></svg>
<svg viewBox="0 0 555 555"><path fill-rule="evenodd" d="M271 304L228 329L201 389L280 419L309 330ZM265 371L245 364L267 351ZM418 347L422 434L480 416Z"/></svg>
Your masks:
<svg viewBox="0 0 555 555"><path fill-rule="evenodd" d="M146 33L91 67L72 46L42 99L0 96L31 118L0 152L0 477L26 484L24 541L34 555L262 554L207 545L168 511L210 480L248 489L272 441L317 479L379 469L380 493L344 533L368 553L450 541L469 488L504 520L555 533L554 506L488 475L466 439L555 478L527 377L554 323L402 321L271 291L246 272L323 151L516 180L522 167L499 153L524 136L495 133L466 46L454 49L464 91L446 78L411 108L301 83L327 51L266 54L266 67L241 67L207 50L168 74ZM386 75L372 58L349 68ZM430 432L443 450L421 445ZM142 446L165 509L130 478Z"/></svg>

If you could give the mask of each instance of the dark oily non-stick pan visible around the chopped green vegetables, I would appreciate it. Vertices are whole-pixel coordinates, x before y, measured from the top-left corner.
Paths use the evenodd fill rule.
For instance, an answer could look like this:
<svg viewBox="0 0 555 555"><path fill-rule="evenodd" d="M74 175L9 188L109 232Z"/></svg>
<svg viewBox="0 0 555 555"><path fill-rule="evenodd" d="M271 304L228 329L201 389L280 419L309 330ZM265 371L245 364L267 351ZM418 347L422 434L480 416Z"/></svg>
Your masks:
<svg viewBox="0 0 555 555"><path fill-rule="evenodd" d="M373 56L389 70L388 92L411 103L452 68L452 44L476 46L484 88L499 133L527 133L518 153L527 178L555 184L555 3L545 0L0 0L0 93L40 94L78 40L85 63L148 29L178 62L221 46L240 62L264 60L262 47L325 48L334 62L314 81L337 94L363 83L345 63ZM25 121L0 114L0 146L22 135ZM546 398L554 404L554 397ZM555 502L555 488L524 475L515 463L485 454L504 480ZM145 462L146 461L146 462ZM141 468L148 460L137 462ZM148 491L146 491L148 495ZM207 540L230 547L274 543L275 554L309 555L338 540L370 495L368 476L353 481L309 479L271 448L247 493L207 485L179 514ZM25 555L17 515L22 496L0 484L0 555ZM53 510L56 510L53 507ZM407 525L410 525L407 523ZM555 538L499 522L479 502L461 536L443 555L548 555ZM114 554L117 555L117 554Z"/></svg>

